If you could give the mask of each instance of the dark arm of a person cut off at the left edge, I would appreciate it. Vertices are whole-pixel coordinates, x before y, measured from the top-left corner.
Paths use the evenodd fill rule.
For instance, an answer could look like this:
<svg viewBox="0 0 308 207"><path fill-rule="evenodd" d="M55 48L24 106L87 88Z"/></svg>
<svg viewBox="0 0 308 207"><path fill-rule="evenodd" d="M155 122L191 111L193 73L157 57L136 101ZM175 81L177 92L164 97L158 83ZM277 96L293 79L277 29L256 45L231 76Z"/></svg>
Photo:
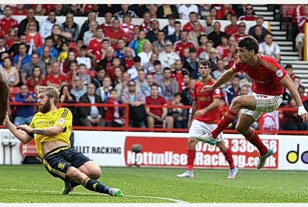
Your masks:
<svg viewBox="0 0 308 207"><path fill-rule="evenodd" d="M7 101L9 94L8 85L2 72L0 72L0 89L0 123L2 124L5 119L5 113L7 111Z"/></svg>

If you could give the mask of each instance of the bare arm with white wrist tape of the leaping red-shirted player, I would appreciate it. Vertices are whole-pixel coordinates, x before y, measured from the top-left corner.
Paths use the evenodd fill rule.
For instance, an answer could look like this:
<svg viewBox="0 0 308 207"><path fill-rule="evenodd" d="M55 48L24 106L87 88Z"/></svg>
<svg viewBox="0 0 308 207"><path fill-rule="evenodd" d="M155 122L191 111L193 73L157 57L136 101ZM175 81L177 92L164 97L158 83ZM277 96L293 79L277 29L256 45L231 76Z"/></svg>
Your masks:
<svg viewBox="0 0 308 207"><path fill-rule="evenodd" d="M290 91L292 98L294 99L296 104L299 106L298 113L303 119L303 122L308 122L308 112L304 108L300 94L296 86L294 85L293 81L291 80L290 76L285 76L279 83L285 86Z"/></svg>

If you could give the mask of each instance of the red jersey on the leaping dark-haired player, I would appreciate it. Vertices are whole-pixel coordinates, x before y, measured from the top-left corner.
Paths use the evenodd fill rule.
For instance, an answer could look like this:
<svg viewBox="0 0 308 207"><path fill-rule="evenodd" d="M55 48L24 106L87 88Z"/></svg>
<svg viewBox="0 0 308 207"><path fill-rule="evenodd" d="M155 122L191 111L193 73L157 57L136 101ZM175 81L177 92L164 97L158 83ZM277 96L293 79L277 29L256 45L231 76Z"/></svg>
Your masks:
<svg viewBox="0 0 308 207"><path fill-rule="evenodd" d="M281 65L272 57L259 55L258 64L252 67L247 63L241 63L237 58L232 66L234 72L245 72L254 80L251 90L256 94L280 96L284 93L284 87L279 83L287 72Z"/></svg>

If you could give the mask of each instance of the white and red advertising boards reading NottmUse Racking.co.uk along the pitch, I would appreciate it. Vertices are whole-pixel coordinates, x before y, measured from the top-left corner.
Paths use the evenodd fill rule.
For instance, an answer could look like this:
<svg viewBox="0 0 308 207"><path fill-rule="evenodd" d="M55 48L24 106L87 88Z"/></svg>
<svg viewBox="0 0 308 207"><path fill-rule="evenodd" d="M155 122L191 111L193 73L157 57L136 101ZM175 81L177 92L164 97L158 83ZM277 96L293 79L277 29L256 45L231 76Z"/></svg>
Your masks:
<svg viewBox="0 0 308 207"><path fill-rule="evenodd" d="M21 144L8 129L0 129L0 164L21 164L25 155L36 155L34 141ZM308 140L306 136L260 135L266 146L274 149L264 169L308 170ZM259 153L240 134L224 134L235 165L256 169ZM131 150L141 144L141 153ZM100 166L185 167L187 164L187 133L79 131L74 130L74 147ZM135 156L136 155L136 156ZM136 158L136 160L135 160ZM225 157L216 146L198 142L196 168L228 168Z"/></svg>

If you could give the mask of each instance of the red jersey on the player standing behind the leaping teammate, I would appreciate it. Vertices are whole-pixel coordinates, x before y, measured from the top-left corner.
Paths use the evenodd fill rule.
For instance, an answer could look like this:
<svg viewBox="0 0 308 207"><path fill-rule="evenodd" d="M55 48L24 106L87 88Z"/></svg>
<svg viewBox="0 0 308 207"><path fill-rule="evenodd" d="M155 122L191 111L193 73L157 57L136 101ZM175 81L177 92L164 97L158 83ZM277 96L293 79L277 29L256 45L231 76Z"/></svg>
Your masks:
<svg viewBox="0 0 308 207"><path fill-rule="evenodd" d="M201 81L196 82L195 88L194 88L194 96L193 100L197 102L197 110L202 110L203 108L209 106L211 103L213 103L213 99L221 98L221 91L219 88L210 91L210 92L202 92L200 93L201 89L205 85L212 85L215 83L215 80L213 78L210 78L208 82L205 84L202 84ZM192 114L193 115L193 114ZM194 119L198 121L202 121L205 123L218 123L220 120L220 111L218 107L215 107L214 109L204 113L202 116L195 117Z"/></svg>

